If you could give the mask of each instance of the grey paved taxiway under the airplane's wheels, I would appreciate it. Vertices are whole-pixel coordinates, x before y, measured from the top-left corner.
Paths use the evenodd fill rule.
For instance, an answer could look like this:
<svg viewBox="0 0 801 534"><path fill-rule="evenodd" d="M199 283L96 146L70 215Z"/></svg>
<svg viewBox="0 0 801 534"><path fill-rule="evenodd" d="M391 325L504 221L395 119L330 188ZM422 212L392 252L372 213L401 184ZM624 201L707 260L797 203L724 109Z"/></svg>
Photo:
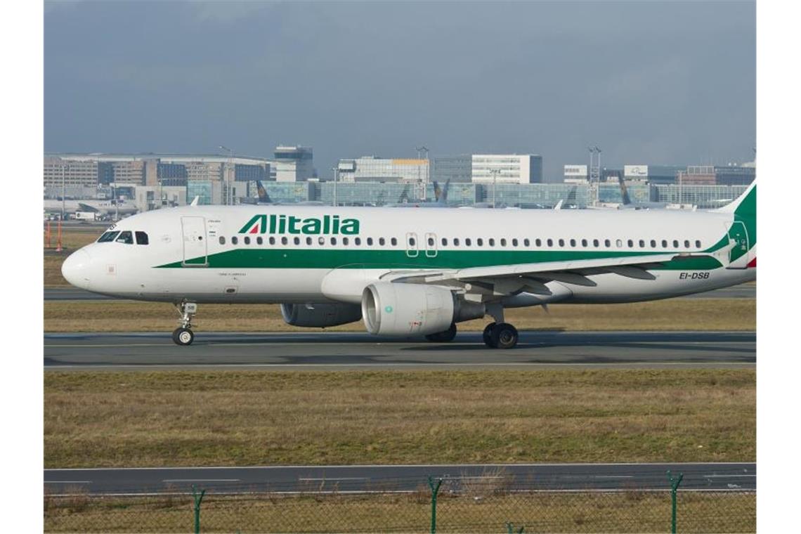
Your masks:
<svg viewBox="0 0 801 534"><path fill-rule="evenodd" d="M753 331L521 331L512 350L486 347L480 332L460 333L451 343L429 343L352 332L199 331L190 347L178 347L166 331L44 336L46 370L732 368L755 363Z"/></svg>

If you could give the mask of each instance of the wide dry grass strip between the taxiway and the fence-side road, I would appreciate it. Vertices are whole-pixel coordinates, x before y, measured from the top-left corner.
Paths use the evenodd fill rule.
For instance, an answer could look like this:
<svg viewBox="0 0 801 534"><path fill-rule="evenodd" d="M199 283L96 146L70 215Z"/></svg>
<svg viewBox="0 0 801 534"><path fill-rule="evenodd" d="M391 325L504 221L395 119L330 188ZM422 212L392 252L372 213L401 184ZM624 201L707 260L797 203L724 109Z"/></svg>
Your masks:
<svg viewBox="0 0 801 534"><path fill-rule="evenodd" d="M46 468L755 460L754 370L45 373Z"/></svg>

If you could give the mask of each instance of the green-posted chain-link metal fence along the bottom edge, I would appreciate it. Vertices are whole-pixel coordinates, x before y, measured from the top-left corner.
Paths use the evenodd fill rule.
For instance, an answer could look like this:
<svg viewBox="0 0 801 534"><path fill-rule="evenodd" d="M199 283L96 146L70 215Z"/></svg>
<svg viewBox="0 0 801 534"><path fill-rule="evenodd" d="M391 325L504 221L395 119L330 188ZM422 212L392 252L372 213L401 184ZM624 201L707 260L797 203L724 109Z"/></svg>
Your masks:
<svg viewBox="0 0 801 534"><path fill-rule="evenodd" d="M45 532L755 532L755 491L682 491L678 476L660 479L662 489L542 488L503 472L372 480L357 490L347 481L292 492L267 484L133 495L64 488L45 496L44 526Z"/></svg>

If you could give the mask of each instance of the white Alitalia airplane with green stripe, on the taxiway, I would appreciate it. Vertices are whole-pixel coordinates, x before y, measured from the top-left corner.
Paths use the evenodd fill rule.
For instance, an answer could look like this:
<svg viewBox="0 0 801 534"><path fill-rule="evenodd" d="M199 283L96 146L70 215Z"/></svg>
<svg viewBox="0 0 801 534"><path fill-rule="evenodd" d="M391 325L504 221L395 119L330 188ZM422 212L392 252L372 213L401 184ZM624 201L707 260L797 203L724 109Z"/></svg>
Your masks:
<svg viewBox="0 0 801 534"><path fill-rule="evenodd" d="M174 303L179 345L203 303L280 303L298 327L364 319L450 341L507 307L666 299L756 279L756 186L714 211L187 206L113 224L62 266L74 286Z"/></svg>

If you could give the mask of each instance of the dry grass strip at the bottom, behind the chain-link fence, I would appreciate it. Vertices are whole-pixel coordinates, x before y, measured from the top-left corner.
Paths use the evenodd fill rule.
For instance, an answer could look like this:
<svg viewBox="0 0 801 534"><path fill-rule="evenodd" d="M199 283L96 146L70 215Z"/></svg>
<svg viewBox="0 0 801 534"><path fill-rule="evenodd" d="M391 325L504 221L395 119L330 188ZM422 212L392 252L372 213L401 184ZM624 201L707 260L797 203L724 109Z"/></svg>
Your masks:
<svg viewBox="0 0 801 534"><path fill-rule="evenodd" d="M428 532L430 493L206 496L201 532ZM45 498L45 532L190 532L191 496ZM755 493L678 494L679 532L755 532ZM454 495L437 532L670 532L670 496L643 493Z"/></svg>

